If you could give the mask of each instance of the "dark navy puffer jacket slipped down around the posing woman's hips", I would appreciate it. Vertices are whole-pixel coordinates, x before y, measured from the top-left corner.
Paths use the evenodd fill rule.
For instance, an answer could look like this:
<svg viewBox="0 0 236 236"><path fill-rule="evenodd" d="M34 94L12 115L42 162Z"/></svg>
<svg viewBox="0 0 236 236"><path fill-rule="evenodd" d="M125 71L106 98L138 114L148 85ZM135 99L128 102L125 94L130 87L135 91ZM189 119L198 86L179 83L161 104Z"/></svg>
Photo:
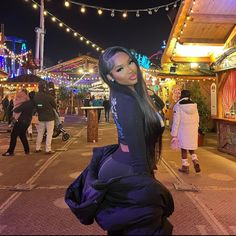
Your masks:
<svg viewBox="0 0 236 236"><path fill-rule="evenodd" d="M65 201L82 224L94 219L107 231L124 235L169 235L174 211L171 193L151 175L99 181L98 170L118 145L94 148L90 165L69 186Z"/></svg>

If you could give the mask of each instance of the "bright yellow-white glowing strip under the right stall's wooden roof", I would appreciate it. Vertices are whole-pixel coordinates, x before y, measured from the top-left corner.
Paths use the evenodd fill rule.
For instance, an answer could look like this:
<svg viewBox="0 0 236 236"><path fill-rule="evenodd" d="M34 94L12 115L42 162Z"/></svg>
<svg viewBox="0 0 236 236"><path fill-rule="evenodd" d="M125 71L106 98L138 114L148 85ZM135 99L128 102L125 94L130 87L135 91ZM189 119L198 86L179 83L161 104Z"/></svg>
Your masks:
<svg viewBox="0 0 236 236"><path fill-rule="evenodd" d="M175 53L182 57L209 57L223 53L223 46L199 46L176 44Z"/></svg>

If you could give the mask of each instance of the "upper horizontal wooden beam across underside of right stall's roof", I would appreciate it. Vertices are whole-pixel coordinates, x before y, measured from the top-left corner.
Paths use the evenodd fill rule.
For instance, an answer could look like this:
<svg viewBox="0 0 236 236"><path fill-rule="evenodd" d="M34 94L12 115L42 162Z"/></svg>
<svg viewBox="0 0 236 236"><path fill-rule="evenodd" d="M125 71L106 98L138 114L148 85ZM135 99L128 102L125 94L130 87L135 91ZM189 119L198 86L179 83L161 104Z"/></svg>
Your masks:
<svg viewBox="0 0 236 236"><path fill-rule="evenodd" d="M235 24L236 15L192 13L190 20L194 23Z"/></svg>

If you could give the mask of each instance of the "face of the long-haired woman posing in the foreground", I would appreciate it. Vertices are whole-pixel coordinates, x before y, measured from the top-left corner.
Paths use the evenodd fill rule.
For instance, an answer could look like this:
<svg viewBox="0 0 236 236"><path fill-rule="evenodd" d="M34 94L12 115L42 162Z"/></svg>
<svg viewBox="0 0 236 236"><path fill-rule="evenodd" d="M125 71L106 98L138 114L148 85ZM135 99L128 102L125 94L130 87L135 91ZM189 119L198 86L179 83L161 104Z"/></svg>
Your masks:
<svg viewBox="0 0 236 236"><path fill-rule="evenodd" d="M110 60L113 68L108 79L112 80L113 78L117 83L134 90L134 85L138 82L137 66L134 61L124 52L116 53Z"/></svg>

